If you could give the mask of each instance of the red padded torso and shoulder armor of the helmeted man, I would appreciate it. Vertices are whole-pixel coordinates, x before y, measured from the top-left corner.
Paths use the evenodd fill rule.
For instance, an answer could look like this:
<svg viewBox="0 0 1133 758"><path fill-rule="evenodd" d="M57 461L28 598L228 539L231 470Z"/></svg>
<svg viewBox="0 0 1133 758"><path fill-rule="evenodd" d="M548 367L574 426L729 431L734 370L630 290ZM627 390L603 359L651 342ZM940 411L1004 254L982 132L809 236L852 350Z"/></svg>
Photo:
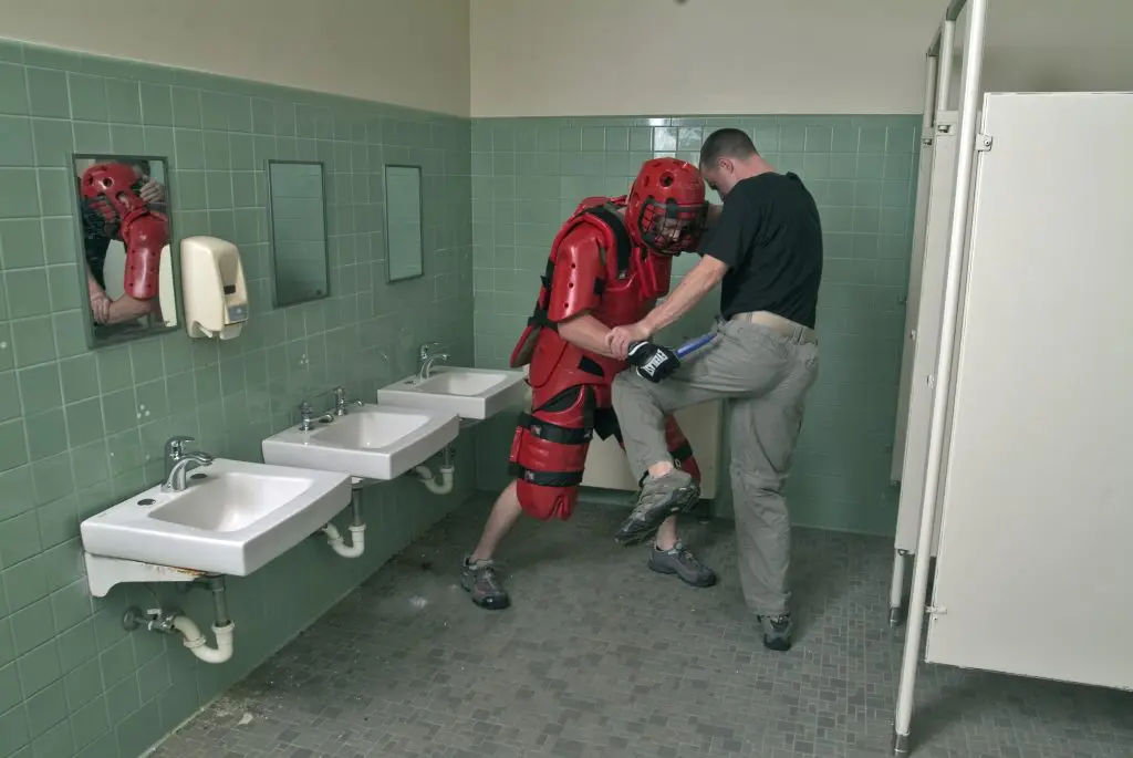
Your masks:
<svg viewBox="0 0 1133 758"><path fill-rule="evenodd" d="M585 199L551 246L543 286L511 366L530 365L535 407L578 385L608 386L627 364L582 350L557 325L589 313L606 326L640 321L668 292L672 258L634 247L617 214L624 198Z"/></svg>

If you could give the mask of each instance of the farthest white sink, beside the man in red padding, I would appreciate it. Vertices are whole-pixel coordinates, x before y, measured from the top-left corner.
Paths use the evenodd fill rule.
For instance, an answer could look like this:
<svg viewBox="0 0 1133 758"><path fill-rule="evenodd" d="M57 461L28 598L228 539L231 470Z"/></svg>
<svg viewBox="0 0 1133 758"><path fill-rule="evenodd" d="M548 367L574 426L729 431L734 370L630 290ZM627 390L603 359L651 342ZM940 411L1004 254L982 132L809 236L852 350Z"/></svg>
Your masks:
<svg viewBox="0 0 1133 758"><path fill-rule="evenodd" d="M522 402L523 372L437 366L424 382L407 376L377 391L380 403L435 408L461 418L484 420Z"/></svg>

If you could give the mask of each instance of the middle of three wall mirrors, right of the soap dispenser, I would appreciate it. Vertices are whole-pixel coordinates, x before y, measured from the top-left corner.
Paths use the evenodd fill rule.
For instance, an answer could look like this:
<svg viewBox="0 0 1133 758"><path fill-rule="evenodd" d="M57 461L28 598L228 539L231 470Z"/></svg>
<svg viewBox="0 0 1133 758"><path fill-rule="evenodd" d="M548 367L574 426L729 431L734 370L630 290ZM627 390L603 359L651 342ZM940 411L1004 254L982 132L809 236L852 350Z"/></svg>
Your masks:
<svg viewBox="0 0 1133 758"><path fill-rule="evenodd" d="M267 195L275 307L329 296L331 264L323 164L269 161Z"/></svg>

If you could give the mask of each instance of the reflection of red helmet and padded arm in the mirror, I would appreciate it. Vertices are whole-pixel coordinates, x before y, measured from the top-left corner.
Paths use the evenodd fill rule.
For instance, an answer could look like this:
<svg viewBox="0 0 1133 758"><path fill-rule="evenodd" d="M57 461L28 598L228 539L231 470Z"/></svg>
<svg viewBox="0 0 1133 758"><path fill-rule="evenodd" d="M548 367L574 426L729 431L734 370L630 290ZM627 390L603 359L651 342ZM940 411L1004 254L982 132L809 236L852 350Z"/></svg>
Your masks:
<svg viewBox="0 0 1133 758"><path fill-rule="evenodd" d="M126 163L95 163L83 172L79 190L108 228L118 230L126 247L122 289L137 300L160 292L162 248L169 242L169 219L151 210L137 193L137 174Z"/></svg>

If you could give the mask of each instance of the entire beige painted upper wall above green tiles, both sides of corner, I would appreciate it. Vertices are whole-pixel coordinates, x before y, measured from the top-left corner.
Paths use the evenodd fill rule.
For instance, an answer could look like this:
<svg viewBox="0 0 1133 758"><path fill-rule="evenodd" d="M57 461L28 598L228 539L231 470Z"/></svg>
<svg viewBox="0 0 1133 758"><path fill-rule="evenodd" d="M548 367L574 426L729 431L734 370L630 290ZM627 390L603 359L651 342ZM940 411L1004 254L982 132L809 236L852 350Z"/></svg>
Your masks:
<svg viewBox="0 0 1133 758"><path fill-rule="evenodd" d="M987 88L1133 90L1130 0L989 2ZM0 36L458 116L913 113L944 5L0 0Z"/></svg>

